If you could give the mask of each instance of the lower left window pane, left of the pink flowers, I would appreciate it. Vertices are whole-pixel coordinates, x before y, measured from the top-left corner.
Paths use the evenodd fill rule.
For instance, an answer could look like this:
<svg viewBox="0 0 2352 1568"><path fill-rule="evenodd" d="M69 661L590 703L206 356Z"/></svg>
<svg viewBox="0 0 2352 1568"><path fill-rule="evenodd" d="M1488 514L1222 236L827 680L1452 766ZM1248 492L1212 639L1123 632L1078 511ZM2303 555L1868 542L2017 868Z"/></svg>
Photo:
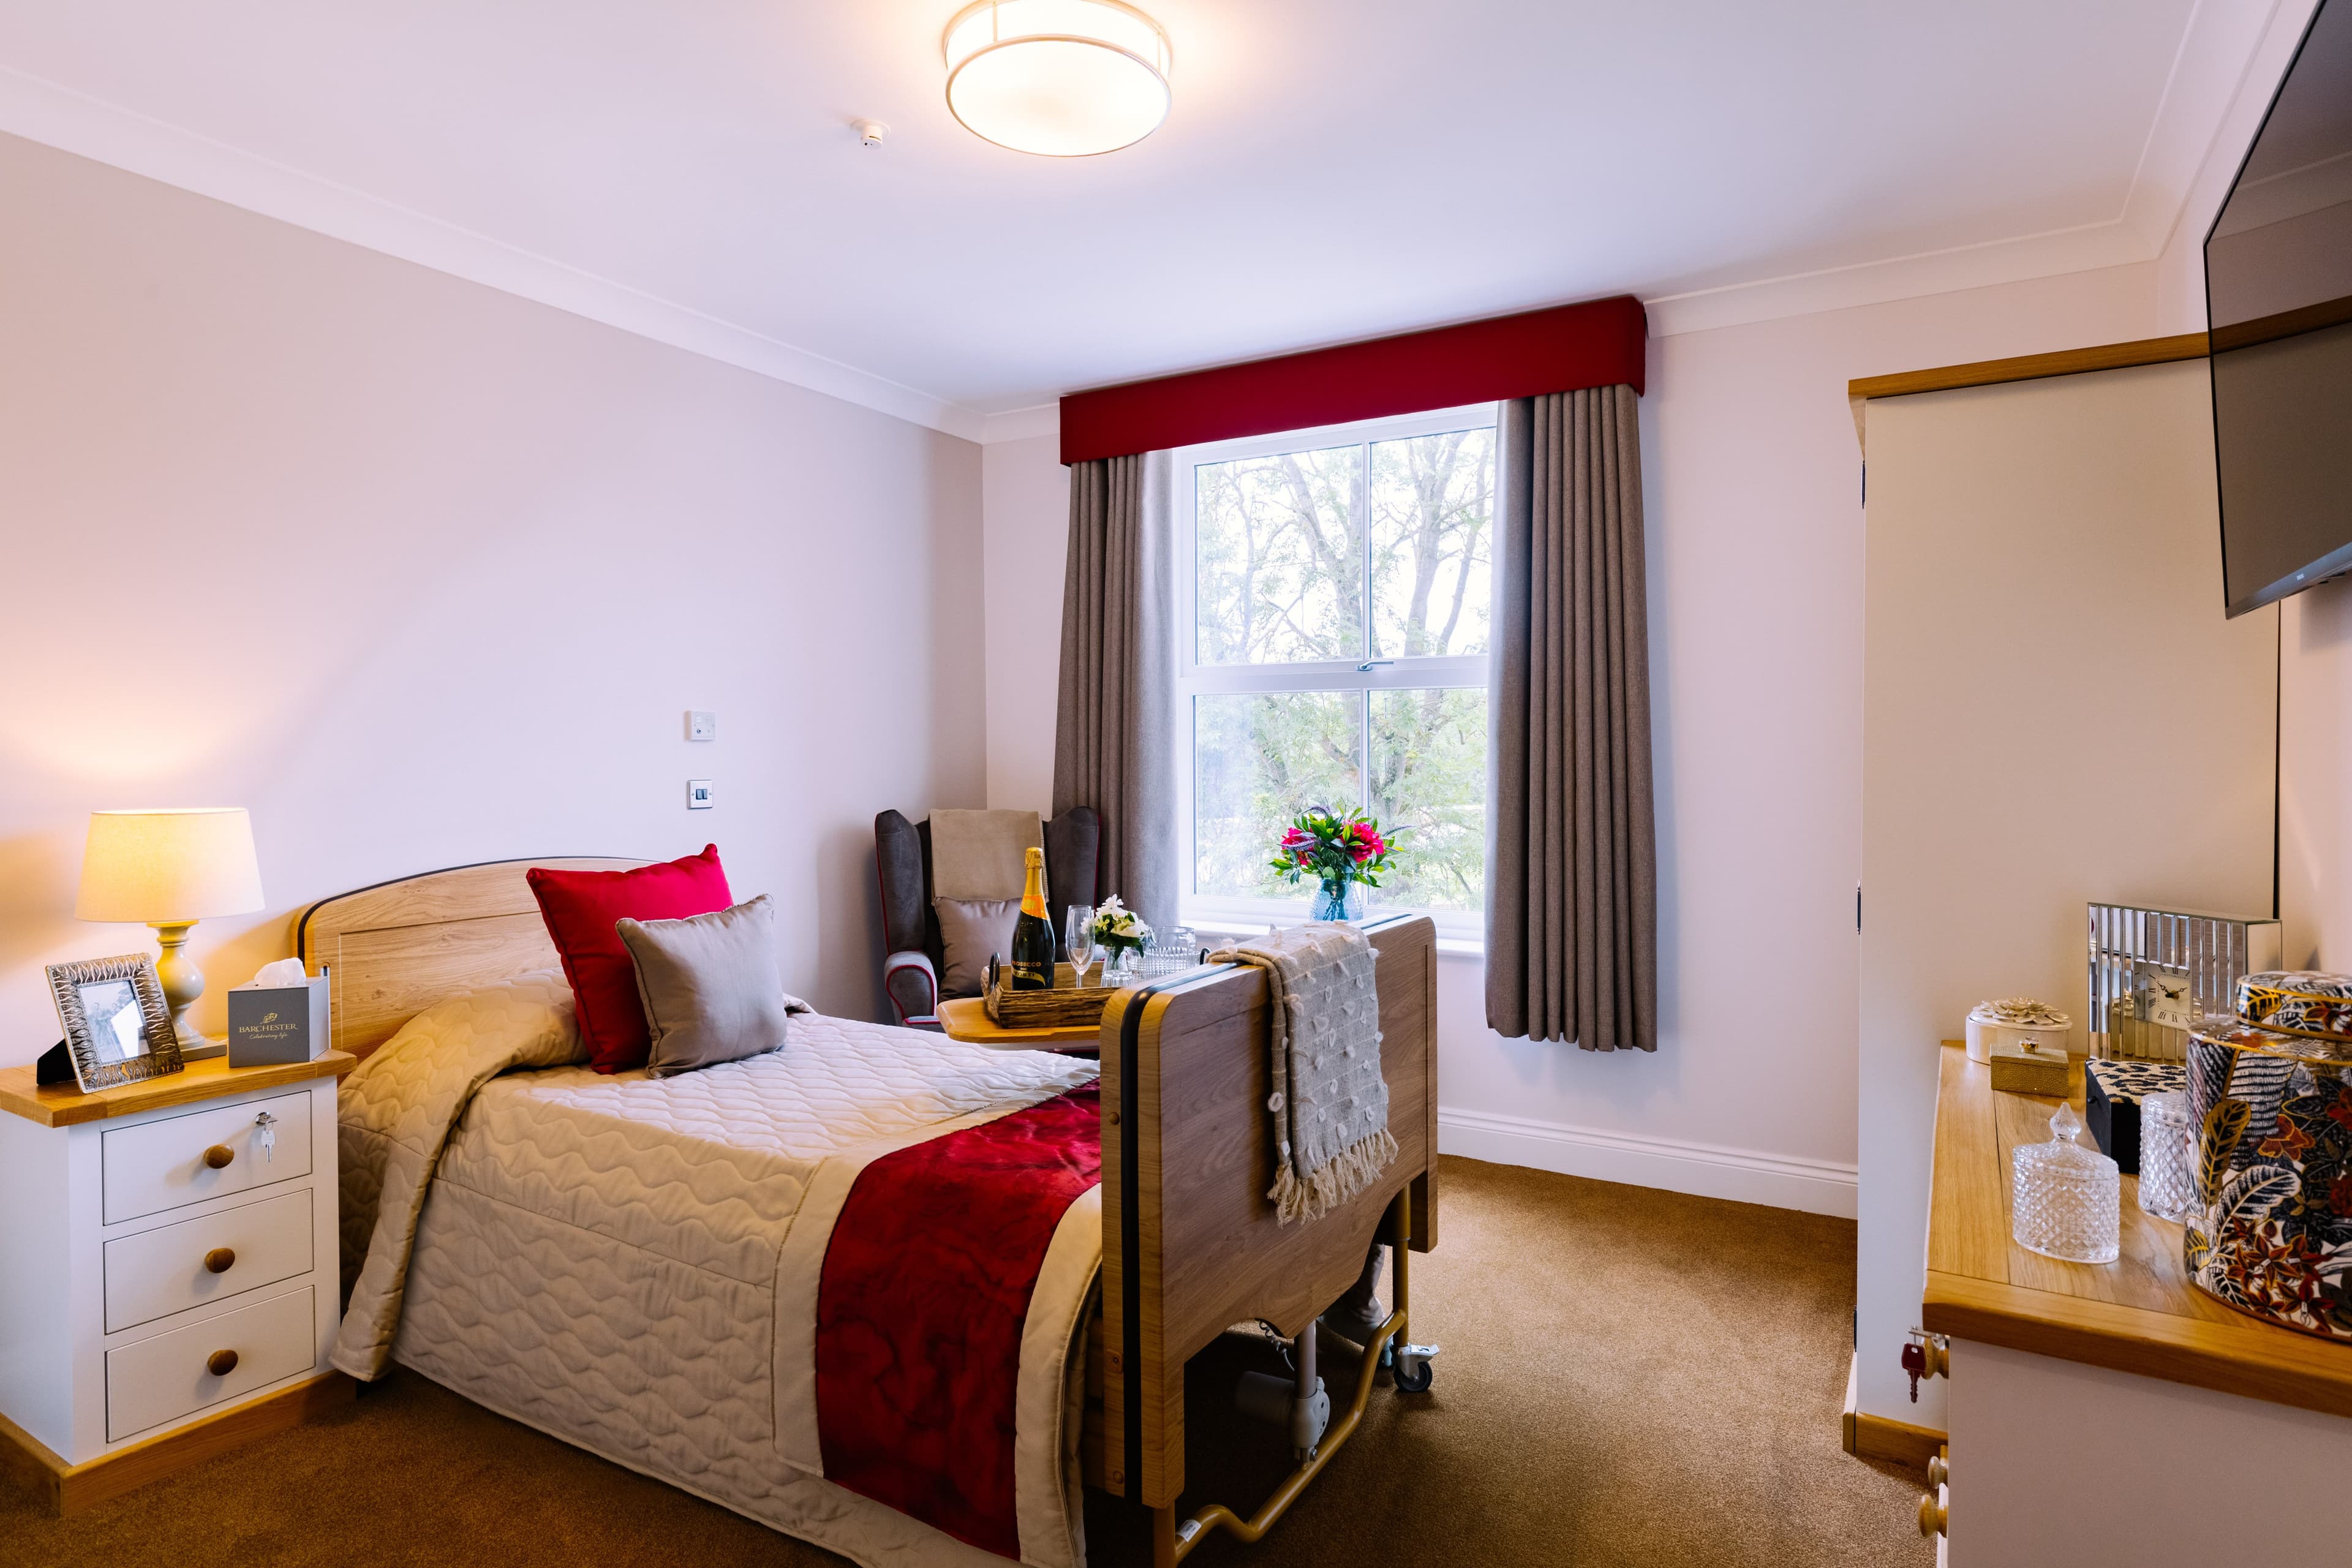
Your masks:
<svg viewBox="0 0 2352 1568"><path fill-rule="evenodd" d="M1308 806L1362 799L1362 755L1359 691L1192 698L1192 891L1303 898L1268 865L1275 839Z"/></svg>

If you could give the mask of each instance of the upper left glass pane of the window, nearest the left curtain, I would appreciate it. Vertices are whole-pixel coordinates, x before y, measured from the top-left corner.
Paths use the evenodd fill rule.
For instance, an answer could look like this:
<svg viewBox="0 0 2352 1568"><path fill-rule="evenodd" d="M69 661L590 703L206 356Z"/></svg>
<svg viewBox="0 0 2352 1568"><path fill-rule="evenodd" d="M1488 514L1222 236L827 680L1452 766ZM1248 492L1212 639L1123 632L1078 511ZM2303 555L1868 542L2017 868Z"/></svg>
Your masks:
<svg viewBox="0 0 2352 1568"><path fill-rule="evenodd" d="M1195 658L1364 658L1362 447L1192 470Z"/></svg>

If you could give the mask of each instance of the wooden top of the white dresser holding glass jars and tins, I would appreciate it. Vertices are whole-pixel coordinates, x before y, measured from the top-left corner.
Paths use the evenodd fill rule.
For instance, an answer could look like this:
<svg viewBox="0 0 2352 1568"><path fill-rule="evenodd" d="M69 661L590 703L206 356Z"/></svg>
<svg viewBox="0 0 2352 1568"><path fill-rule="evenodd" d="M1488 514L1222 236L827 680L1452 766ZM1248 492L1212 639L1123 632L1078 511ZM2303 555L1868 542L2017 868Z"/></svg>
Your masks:
<svg viewBox="0 0 2352 1568"><path fill-rule="evenodd" d="M2082 1110L2082 1063L2067 1081ZM2060 1262L2011 1241L2009 1154L2049 1143L2056 1110L2046 1095L1994 1093L1990 1067L1971 1063L1959 1041L1943 1044L1922 1326L2352 1415L2352 1345L2251 1319L2192 1286L2180 1227L2140 1208L2140 1178L2124 1175L2122 1258L2110 1265Z"/></svg>

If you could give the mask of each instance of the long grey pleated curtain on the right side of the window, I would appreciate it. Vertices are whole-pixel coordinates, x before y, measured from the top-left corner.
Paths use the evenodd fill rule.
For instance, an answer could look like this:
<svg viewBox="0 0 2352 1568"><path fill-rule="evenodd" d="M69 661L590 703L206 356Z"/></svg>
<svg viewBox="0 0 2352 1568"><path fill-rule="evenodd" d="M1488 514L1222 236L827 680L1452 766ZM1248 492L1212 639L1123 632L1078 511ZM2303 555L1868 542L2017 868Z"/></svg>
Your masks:
<svg viewBox="0 0 2352 1568"><path fill-rule="evenodd" d="M1486 1025L1658 1048L1642 442L1630 386L1503 404Z"/></svg>

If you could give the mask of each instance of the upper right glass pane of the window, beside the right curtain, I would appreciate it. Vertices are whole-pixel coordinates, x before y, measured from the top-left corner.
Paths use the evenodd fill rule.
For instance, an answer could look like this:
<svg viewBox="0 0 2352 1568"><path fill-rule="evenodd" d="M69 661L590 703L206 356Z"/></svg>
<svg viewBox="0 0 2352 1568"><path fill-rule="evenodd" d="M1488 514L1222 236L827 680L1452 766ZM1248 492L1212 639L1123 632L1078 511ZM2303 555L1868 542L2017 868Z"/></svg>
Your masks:
<svg viewBox="0 0 2352 1568"><path fill-rule="evenodd" d="M1371 658L1486 651L1494 430L1371 444Z"/></svg>

